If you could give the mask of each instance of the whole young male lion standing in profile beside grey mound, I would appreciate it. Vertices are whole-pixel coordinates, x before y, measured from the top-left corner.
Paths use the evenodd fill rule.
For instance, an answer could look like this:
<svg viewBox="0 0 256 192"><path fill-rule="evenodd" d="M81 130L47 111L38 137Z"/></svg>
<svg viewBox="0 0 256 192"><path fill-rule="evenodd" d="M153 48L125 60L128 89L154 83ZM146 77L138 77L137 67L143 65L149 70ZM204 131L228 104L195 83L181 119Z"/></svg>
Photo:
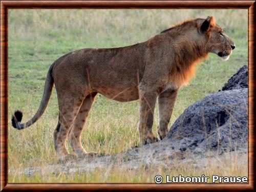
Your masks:
<svg viewBox="0 0 256 192"><path fill-rule="evenodd" d="M23 114L15 111L12 126L22 130L35 123L46 110L55 84L59 116L54 146L60 160L72 156L67 139L75 156L94 155L84 150L81 134L98 93L120 102L139 99L140 144L157 142L152 133L157 100L162 140L168 133L178 91L195 75L196 65L209 53L227 60L234 48L214 17L208 16L186 20L132 46L68 53L50 66L36 114L21 123Z"/></svg>

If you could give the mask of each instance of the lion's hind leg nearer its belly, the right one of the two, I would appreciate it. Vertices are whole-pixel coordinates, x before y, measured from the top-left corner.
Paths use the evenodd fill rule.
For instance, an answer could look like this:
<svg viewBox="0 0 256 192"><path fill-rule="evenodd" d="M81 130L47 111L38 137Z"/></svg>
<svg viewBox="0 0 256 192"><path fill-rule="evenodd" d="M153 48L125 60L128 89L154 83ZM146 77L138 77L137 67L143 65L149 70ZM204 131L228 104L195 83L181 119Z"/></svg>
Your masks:
<svg viewBox="0 0 256 192"><path fill-rule="evenodd" d="M83 131L84 124L86 124L86 120L94 103L97 92L93 92L89 94L82 102L82 105L79 109L79 112L75 118L73 126L69 132L69 142L72 147L72 150L78 157L84 157L86 155L96 155L96 154L88 154L82 144L81 144L81 135Z"/></svg>

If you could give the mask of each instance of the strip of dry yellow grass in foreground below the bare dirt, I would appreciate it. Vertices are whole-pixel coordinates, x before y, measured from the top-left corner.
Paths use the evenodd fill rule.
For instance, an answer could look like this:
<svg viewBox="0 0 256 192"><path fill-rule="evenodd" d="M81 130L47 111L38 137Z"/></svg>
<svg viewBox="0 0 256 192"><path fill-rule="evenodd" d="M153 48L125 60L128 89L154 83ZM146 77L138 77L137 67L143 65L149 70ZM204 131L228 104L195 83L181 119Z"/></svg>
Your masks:
<svg viewBox="0 0 256 192"><path fill-rule="evenodd" d="M81 182L81 183L154 183L154 178L161 175L166 182L166 175L170 177L209 177L207 183L212 182L212 175L220 177L248 177L247 154L227 153L223 156L211 158L194 157L188 160L176 160L172 162L166 159L165 166L159 164L140 165L139 168L125 168L123 165L95 168L87 172L55 172L52 174L48 165L41 164L40 173L31 176L25 174L22 167L17 167L12 173L10 182ZM33 166L33 165L32 165ZM122 167L122 168L120 168Z"/></svg>

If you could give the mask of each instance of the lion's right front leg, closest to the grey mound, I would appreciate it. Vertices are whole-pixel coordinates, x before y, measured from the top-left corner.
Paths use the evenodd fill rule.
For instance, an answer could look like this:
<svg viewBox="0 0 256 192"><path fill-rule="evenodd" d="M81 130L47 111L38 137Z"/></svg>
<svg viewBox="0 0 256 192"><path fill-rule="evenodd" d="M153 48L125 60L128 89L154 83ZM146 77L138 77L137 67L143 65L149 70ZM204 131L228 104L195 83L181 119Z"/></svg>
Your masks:
<svg viewBox="0 0 256 192"><path fill-rule="evenodd" d="M159 125L158 135L162 140L168 133L168 123L172 116L178 90L168 89L158 96Z"/></svg>

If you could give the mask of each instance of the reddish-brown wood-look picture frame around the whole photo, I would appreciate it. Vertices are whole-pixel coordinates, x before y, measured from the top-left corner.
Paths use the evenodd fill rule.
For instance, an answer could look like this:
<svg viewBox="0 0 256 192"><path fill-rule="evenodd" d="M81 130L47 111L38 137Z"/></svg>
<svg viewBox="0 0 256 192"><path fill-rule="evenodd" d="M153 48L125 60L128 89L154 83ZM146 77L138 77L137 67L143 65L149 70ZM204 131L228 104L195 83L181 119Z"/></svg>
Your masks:
<svg viewBox="0 0 256 192"><path fill-rule="evenodd" d="M247 184L8 183L8 9L247 9L248 179ZM255 1L1 1L1 190L255 190L254 55Z"/></svg>

